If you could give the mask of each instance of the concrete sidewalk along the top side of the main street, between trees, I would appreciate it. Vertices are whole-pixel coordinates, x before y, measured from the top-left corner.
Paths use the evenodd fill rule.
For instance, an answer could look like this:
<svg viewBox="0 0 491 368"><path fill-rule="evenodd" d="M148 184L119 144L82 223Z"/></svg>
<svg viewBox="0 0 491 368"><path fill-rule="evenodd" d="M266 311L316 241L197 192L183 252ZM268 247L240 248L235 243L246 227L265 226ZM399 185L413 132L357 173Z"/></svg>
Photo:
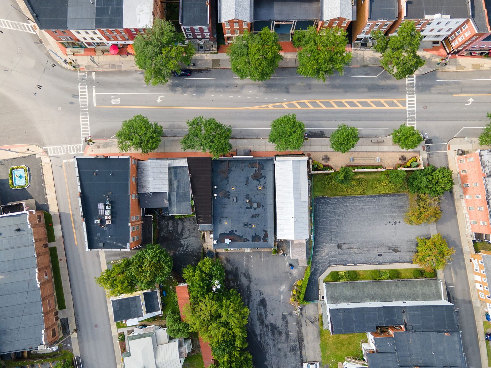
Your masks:
<svg viewBox="0 0 491 368"><path fill-rule="evenodd" d="M16 0L19 8L26 17L30 18L30 12L23 0ZM138 70L135 58L132 55L71 55L67 56L58 43L48 33L38 29L35 23L31 23L36 30L40 40L46 49L52 54L55 61L67 69L88 70L88 71L108 71L108 70ZM289 48L288 51L290 51ZM294 68L298 66L297 53L281 53L283 60L280 61L280 68ZM459 57L451 58L446 66L438 66L437 63L441 56L420 51L418 54L426 61L425 65L416 71L416 75L426 74L435 70L444 72L469 71L469 70L490 70L490 58ZM372 50L352 50L352 67L380 65L380 54ZM72 61L73 66L65 63ZM194 64L194 65L193 65ZM211 68L230 68L230 60L226 53L196 53L192 57L191 65L182 64L183 68L211 69Z"/></svg>

